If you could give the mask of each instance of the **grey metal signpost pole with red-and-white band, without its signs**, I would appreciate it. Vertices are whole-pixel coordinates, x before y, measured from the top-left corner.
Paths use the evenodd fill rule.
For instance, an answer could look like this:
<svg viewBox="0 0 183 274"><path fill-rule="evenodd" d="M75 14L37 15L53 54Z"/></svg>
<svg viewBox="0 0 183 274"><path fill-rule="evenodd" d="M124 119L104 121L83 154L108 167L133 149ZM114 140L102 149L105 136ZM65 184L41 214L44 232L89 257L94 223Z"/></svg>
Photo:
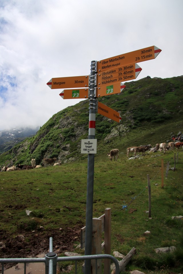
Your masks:
<svg viewBox="0 0 183 274"><path fill-rule="evenodd" d="M89 88L89 134L88 139L95 139L96 122L96 97L95 97L95 74L96 61L91 62L90 88ZM86 197L86 233L85 255L92 254L92 219L93 219L93 196L94 196L94 156L88 153L87 169L87 197ZM91 273L91 260L85 260L84 274Z"/></svg>

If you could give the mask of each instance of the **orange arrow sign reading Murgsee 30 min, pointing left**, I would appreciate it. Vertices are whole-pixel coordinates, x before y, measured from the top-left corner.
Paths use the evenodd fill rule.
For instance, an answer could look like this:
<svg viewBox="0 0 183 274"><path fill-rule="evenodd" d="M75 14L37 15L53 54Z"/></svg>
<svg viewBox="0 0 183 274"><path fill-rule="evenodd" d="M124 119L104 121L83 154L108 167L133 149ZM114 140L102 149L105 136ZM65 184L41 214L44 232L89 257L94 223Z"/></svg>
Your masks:
<svg viewBox="0 0 183 274"><path fill-rule="evenodd" d="M85 88L88 87L89 76L73 76L52 78L47 85L51 89L55 88Z"/></svg>

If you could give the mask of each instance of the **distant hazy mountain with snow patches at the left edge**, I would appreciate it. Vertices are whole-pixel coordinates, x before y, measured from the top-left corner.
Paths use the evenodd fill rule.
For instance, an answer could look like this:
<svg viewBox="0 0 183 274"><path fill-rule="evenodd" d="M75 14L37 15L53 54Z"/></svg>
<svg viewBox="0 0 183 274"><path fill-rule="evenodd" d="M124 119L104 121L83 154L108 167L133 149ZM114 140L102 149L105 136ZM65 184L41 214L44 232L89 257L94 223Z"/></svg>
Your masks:
<svg viewBox="0 0 183 274"><path fill-rule="evenodd" d="M15 144L23 141L27 137L35 135L39 128L39 126L35 128L13 127L0 130L0 153L10 150Z"/></svg>

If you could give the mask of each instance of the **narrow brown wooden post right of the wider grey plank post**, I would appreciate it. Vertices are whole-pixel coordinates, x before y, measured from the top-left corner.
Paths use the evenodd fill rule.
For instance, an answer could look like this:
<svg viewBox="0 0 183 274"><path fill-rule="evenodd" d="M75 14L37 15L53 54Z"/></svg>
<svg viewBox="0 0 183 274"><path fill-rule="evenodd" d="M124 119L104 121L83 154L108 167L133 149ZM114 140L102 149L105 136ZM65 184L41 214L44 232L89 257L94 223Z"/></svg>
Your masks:
<svg viewBox="0 0 183 274"><path fill-rule="evenodd" d="M111 209L105 209L104 216L104 253L111 255ZM110 274L111 260L104 259L104 274Z"/></svg>

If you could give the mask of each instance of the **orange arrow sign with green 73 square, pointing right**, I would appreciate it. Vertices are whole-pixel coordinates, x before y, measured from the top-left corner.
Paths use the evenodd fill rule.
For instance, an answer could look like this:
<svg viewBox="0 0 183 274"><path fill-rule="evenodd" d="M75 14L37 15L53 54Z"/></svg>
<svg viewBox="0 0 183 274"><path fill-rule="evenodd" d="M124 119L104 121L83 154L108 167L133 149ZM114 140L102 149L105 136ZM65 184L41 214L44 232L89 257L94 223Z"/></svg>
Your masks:
<svg viewBox="0 0 183 274"><path fill-rule="evenodd" d="M121 83L114 83L111 85L106 85L106 86L100 86L97 88L97 95L96 97L102 97L102 96L106 96L106 95L111 95L111 94L117 94L122 92L122 90L125 88L126 86Z"/></svg>

